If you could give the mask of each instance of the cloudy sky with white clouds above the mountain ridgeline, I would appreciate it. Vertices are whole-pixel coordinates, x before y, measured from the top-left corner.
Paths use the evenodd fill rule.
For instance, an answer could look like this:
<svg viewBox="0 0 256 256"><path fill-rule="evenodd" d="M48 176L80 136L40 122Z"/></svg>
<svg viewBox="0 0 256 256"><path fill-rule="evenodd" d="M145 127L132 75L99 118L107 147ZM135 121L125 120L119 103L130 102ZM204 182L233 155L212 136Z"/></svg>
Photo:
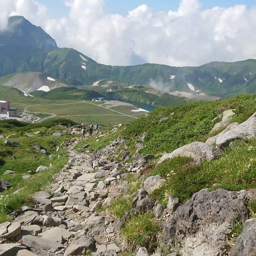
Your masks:
<svg viewBox="0 0 256 256"><path fill-rule="evenodd" d="M254 0L0 0L59 47L110 65L198 66L256 58Z"/></svg>

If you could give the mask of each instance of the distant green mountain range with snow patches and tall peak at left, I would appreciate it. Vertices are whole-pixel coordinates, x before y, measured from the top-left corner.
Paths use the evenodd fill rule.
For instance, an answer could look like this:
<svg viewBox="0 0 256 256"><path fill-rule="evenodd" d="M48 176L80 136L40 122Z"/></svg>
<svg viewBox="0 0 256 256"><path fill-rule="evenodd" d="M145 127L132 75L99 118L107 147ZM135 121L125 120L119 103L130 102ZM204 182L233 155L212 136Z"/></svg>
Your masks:
<svg viewBox="0 0 256 256"><path fill-rule="evenodd" d="M104 79L150 85L165 92L219 97L256 91L256 60L212 62L199 67L103 65L74 49L58 48L42 28L21 16L10 17L9 30L0 34L0 44L0 76L40 71L73 86L91 85Z"/></svg>

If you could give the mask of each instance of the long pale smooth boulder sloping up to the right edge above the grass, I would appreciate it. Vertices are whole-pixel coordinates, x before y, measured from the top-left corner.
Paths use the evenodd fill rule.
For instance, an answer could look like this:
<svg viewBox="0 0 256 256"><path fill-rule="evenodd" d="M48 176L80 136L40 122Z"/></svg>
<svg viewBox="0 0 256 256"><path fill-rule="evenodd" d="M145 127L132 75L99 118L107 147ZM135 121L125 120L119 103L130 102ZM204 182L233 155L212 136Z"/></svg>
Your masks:
<svg viewBox="0 0 256 256"><path fill-rule="evenodd" d="M238 139L252 139L256 134L256 112L245 122L221 133L216 138L216 148L222 149L229 145L230 142Z"/></svg>

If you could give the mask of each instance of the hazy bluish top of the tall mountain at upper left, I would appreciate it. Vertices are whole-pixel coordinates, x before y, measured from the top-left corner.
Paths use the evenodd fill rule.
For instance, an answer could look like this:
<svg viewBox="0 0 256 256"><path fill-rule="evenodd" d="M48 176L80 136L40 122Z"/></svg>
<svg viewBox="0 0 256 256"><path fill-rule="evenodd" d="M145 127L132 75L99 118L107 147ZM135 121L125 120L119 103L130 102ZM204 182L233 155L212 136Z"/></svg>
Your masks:
<svg viewBox="0 0 256 256"><path fill-rule="evenodd" d="M23 16L11 16L7 30L0 32L3 46L55 49L57 44L41 27L33 25Z"/></svg>

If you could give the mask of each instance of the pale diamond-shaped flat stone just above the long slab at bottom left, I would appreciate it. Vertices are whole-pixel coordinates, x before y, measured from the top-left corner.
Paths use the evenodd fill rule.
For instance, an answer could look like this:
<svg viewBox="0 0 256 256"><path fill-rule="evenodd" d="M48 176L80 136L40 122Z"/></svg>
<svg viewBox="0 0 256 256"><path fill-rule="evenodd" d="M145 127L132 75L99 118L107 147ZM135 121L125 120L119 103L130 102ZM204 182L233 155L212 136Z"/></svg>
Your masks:
<svg viewBox="0 0 256 256"><path fill-rule="evenodd" d="M71 236L73 236L73 233L63 228L55 227L44 231L43 233L40 234L40 236L42 236L42 238L44 239L48 239L54 242L60 242L62 244L63 238L67 240Z"/></svg>

